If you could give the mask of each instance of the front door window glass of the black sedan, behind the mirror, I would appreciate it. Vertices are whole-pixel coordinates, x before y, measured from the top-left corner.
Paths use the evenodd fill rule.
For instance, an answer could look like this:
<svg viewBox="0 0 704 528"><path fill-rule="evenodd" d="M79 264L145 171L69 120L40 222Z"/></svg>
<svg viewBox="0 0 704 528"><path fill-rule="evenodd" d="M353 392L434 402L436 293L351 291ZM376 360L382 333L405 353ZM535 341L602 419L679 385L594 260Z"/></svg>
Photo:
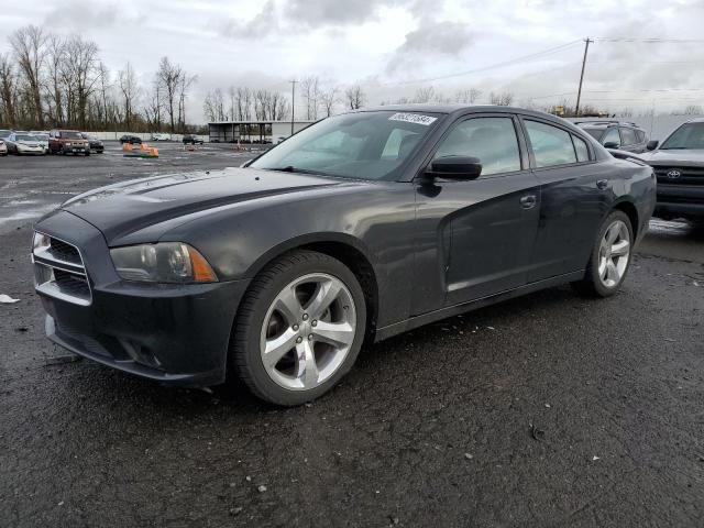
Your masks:
<svg viewBox="0 0 704 528"><path fill-rule="evenodd" d="M520 170L518 138L512 118L475 118L458 123L435 157L470 156L482 164L482 176Z"/></svg>

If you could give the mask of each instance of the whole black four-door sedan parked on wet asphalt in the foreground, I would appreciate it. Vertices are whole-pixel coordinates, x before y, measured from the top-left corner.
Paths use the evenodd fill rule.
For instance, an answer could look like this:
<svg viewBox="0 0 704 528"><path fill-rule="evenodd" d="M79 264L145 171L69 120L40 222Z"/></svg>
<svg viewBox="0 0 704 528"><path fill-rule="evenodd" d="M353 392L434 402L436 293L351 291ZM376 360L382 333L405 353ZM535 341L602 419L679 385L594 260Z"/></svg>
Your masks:
<svg viewBox="0 0 704 528"><path fill-rule="evenodd" d="M654 204L652 168L559 118L382 107L68 200L35 227L36 290L77 354L297 405L365 340L564 283L614 295Z"/></svg>

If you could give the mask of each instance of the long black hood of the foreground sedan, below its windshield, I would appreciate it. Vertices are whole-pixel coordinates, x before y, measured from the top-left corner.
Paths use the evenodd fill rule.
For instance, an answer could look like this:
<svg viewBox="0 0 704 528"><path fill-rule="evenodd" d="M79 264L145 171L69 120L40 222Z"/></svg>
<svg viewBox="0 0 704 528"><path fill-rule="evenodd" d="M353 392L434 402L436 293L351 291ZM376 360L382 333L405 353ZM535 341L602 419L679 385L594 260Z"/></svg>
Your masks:
<svg viewBox="0 0 704 528"><path fill-rule="evenodd" d="M110 243L155 223L231 204L350 185L336 178L254 168L173 174L101 187L61 206ZM358 184L359 185L359 184Z"/></svg>

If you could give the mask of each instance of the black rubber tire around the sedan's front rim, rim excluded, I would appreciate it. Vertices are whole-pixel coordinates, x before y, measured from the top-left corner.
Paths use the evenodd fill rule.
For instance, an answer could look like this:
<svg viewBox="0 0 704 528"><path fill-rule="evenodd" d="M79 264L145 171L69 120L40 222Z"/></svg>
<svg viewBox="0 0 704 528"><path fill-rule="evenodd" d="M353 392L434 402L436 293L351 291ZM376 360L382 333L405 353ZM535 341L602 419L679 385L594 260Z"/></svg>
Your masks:
<svg viewBox="0 0 704 528"><path fill-rule="evenodd" d="M264 369L260 352L261 329L279 292L310 273L332 275L346 286L355 305L356 332L345 359L330 378L308 391L292 391L275 383ZM293 251L271 263L252 280L238 310L230 339L229 376L237 376L265 402L286 407L305 404L330 391L352 369L364 341L365 324L364 293L350 268L322 253Z"/></svg>

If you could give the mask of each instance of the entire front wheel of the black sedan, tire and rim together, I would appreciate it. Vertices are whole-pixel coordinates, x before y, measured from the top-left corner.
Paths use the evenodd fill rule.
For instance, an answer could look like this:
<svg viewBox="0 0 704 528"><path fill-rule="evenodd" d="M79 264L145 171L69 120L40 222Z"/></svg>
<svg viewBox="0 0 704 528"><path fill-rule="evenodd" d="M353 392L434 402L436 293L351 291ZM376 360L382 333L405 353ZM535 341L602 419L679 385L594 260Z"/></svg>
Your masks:
<svg viewBox="0 0 704 528"><path fill-rule="evenodd" d="M295 251L252 282L238 311L230 367L260 398L300 405L330 391L356 360L366 307L340 261Z"/></svg>

